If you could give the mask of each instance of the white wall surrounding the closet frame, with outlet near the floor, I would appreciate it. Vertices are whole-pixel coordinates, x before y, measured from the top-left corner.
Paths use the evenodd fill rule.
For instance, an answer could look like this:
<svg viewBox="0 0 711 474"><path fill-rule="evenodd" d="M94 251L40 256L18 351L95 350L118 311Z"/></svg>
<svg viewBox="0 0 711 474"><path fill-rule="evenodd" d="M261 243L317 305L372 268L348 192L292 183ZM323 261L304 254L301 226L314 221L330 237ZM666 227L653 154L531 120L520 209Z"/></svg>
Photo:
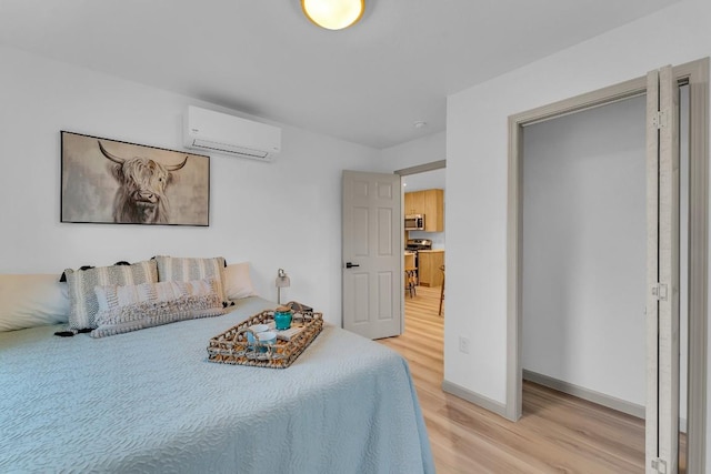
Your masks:
<svg viewBox="0 0 711 474"><path fill-rule="evenodd" d="M707 57L709 24L711 2L685 0L449 98L445 381L505 403L508 117Z"/></svg>

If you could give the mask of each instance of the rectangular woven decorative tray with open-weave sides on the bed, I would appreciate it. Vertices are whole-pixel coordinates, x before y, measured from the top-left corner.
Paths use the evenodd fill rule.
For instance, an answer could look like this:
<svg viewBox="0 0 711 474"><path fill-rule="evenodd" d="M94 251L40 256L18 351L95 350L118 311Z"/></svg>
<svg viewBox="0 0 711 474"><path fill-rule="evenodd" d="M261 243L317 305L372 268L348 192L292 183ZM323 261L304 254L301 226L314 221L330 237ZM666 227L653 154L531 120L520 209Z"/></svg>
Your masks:
<svg viewBox="0 0 711 474"><path fill-rule="evenodd" d="M261 343L249 327L274 323L274 310L262 311L210 339L208 361L222 364L286 369L297 360L323 329L323 315L310 311L293 311L291 329L277 332L277 342ZM248 341L248 333L252 335ZM283 333L283 334L282 334Z"/></svg>

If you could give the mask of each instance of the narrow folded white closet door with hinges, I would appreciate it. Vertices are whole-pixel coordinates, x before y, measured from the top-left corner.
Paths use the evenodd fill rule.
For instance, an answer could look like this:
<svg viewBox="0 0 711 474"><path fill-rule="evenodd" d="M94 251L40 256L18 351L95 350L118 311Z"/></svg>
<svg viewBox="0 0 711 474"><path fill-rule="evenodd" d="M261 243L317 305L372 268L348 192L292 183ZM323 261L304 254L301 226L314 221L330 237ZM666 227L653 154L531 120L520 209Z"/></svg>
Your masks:
<svg viewBox="0 0 711 474"><path fill-rule="evenodd" d="M672 68L648 74L648 390L645 471L679 460L679 92Z"/></svg>

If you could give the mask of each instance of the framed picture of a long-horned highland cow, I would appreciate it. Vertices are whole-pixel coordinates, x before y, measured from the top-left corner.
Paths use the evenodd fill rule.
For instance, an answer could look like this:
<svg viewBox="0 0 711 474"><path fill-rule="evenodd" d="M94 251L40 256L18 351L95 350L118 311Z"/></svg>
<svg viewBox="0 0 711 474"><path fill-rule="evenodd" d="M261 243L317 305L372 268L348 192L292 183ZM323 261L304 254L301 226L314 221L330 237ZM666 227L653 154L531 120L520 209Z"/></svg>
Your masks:
<svg viewBox="0 0 711 474"><path fill-rule="evenodd" d="M61 132L61 222L209 225L210 157Z"/></svg>

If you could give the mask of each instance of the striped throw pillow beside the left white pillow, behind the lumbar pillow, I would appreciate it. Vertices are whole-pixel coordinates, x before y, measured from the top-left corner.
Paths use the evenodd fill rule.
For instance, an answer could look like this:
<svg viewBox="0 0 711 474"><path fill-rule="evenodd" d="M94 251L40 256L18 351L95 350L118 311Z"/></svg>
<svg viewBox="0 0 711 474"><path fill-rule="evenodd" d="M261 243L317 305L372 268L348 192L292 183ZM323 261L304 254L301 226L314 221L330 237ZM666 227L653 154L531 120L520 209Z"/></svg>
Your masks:
<svg viewBox="0 0 711 474"><path fill-rule="evenodd" d="M158 281L156 262L147 260L132 265L97 266L87 270L64 270L69 290L69 327L96 329L99 302L93 288L97 285L133 285Z"/></svg>

